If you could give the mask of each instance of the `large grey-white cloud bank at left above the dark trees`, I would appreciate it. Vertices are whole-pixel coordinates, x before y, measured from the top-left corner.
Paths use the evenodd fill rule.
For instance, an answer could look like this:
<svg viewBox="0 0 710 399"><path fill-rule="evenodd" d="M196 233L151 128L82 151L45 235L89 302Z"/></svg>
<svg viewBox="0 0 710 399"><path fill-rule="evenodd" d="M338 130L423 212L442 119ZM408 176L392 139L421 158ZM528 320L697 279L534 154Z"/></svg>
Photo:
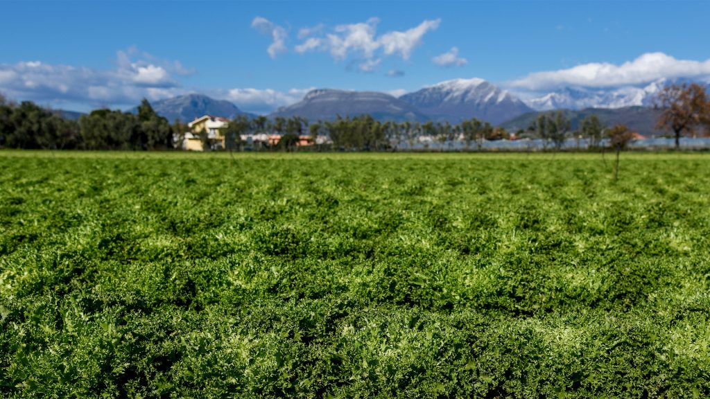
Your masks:
<svg viewBox="0 0 710 399"><path fill-rule="evenodd" d="M135 48L121 50L116 66L107 70L40 61L0 64L0 91L40 104L89 106L131 105L143 97L155 100L185 92L173 79L173 74L187 72L182 65L152 56L146 60L143 55Z"/></svg>

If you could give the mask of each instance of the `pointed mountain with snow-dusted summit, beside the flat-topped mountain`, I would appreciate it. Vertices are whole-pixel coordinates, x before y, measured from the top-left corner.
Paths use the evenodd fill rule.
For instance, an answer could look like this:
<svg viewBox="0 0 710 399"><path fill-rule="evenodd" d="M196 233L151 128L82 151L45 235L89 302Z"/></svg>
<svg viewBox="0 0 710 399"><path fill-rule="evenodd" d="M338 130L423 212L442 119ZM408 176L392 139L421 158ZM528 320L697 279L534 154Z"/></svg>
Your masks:
<svg viewBox="0 0 710 399"><path fill-rule="evenodd" d="M431 119L451 123L476 117L498 124L532 111L507 90L479 78L447 80L404 94L400 99Z"/></svg>

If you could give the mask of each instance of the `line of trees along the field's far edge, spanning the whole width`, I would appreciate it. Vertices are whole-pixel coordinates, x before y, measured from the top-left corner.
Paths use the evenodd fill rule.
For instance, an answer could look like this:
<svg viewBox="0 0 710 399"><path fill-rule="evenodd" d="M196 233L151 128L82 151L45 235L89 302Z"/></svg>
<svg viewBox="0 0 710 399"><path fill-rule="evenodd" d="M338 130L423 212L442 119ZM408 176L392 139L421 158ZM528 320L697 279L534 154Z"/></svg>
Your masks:
<svg viewBox="0 0 710 399"><path fill-rule="evenodd" d="M704 87L699 84L672 84L665 87L657 95L655 107L661 111L657 128L672 133L677 149L682 136L695 134L703 128L710 131L710 100ZM81 116L78 121L71 121L33 102L14 104L0 95L0 147L4 148L172 149L180 148L187 130L187 125L179 120L170 125L167 119L158 116L146 99L143 99L135 114L97 109ZM204 141L204 148L208 149L207 133L197 133ZM411 149L422 136L438 142L442 151L445 144L452 146L454 141L463 141L468 151L481 150L485 141L511 137L539 138L544 149L558 151L568 138L584 139L589 148L599 148L606 138L606 143L614 148L623 142L623 148L633 138L626 126L603 126L596 115L587 116L573 131L571 121L562 111L539 114L527 129L519 129L513 134L476 118L466 119L459 124L434 121L398 123L378 121L369 115L337 116L334 121L319 120L312 123L299 116L279 116L274 119L257 116L249 119L239 115L220 133L224 137L225 149L229 151L244 149L246 143L242 137L254 134L280 136L275 144L268 140L253 144L252 149L265 151L293 151L306 135L313 144L311 148L345 151ZM405 143L405 148L398 148L400 143Z"/></svg>

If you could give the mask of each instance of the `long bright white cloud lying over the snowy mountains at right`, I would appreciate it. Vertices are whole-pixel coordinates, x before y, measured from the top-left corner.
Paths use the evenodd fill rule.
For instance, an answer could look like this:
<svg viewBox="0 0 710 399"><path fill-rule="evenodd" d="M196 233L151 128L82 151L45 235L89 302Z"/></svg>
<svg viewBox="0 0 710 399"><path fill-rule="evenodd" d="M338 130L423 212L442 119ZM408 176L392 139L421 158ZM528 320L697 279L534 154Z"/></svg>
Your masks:
<svg viewBox="0 0 710 399"><path fill-rule="evenodd" d="M645 53L621 65L591 62L564 70L535 72L510 82L510 86L528 90L557 89L564 86L601 88L679 77L710 77L710 60L677 60L664 53Z"/></svg>

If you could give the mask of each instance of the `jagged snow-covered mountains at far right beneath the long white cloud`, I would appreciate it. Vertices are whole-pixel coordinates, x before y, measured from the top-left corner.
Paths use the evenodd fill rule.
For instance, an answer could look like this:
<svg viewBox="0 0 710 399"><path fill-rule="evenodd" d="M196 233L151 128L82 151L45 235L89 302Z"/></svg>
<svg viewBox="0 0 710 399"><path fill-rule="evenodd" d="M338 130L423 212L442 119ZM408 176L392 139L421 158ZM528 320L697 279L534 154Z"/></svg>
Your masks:
<svg viewBox="0 0 710 399"><path fill-rule="evenodd" d="M627 106L652 106L658 92L671 82L657 80L643 86L614 87L610 89L589 89L584 87L564 87L540 97L525 99L525 104L535 111L550 109L618 109Z"/></svg>

